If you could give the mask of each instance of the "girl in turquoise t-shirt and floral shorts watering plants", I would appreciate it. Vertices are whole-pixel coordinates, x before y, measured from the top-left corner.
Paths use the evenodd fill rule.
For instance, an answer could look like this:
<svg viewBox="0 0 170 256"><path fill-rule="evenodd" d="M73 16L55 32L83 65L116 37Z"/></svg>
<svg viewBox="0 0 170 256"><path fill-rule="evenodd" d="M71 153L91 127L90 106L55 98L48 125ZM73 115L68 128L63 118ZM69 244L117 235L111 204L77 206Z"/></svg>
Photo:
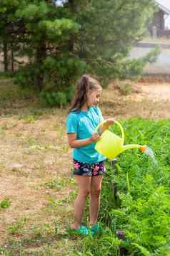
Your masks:
<svg viewBox="0 0 170 256"><path fill-rule="evenodd" d="M101 231L97 217L106 158L94 149L96 141L100 139L99 134L94 131L103 120L101 110L97 106L101 91L102 87L97 80L83 75L77 84L76 94L66 118L69 146L74 148L74 176L79 187L71 229L78 234L94 235ZM113 119L107 119L100 128L100 134L113 123ZM81 225L87 195L90 195L91 229Z"/></svg>

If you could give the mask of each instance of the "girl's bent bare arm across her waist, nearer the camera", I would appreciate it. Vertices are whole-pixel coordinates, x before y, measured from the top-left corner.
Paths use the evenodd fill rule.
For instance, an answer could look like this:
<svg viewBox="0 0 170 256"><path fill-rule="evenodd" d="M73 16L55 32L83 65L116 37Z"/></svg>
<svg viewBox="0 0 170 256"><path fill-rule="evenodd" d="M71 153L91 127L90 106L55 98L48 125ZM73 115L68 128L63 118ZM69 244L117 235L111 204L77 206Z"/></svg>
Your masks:
<svg viewBox="0 0 170 256"><path fill-rule="evenodd" d="M77 140L76 133L68 133L67 137L68 137L69 146L71 148L80 148L82 146L89 145L92 142L99 141L99 138L100 138L98 133L94 133L91 136L91 138L85 138L84 140Z"/></svg>

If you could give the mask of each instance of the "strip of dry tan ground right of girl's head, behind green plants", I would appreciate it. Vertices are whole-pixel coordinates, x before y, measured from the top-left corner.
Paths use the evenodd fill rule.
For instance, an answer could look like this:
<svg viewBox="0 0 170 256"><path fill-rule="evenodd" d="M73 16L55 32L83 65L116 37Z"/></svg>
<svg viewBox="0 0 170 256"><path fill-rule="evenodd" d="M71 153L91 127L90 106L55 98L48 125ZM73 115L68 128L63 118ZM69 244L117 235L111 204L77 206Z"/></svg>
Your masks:
<svg viewBox="0 0 170 256"><path fill-rule="evenodd" d="M106 116L116 118L170 118L170 83L169 82L125 82L132 91L122 95L119 86L111 84L104 92L102 109ZM116 88L116 90L115 90Z"/></svg>

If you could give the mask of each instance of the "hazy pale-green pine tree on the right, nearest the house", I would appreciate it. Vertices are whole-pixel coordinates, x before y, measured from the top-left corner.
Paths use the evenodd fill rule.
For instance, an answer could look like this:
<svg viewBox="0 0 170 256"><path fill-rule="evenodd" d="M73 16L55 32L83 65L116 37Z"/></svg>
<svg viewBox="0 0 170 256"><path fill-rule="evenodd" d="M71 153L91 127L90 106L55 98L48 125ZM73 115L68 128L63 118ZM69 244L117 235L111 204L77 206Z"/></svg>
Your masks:
<svg viewBox="0 0 170 256"><path fill-rule="evenodd" d="M100 77L126 77L124 59L144 36L153 13L152 0L91 0L79 6L77 54Z"/></svg>

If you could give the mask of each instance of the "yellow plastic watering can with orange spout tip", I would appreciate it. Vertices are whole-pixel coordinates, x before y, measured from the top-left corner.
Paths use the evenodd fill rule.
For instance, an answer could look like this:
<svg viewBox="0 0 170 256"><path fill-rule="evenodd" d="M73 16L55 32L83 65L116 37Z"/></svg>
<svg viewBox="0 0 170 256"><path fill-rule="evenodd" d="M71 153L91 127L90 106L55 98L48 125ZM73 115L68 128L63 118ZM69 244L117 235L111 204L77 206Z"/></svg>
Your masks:
<svg viewBox="0 0 170 256"><path fill-rule="evenodd" d="M104 124L104 122L105 121L99 123L99 125L96 127L96 132L98 131L99 127ZM115 120L114 123L119 125L122 138L106 129L101 134L99 141L96 142L96 151L101 153L103 156L106 156L106 158L109 158L110 160L118 156L119 153L130 148L139 148L143 153L146 151L146 146L141 146L139 144L129 144L124 146L124 130L118 121Z"/></svg>

